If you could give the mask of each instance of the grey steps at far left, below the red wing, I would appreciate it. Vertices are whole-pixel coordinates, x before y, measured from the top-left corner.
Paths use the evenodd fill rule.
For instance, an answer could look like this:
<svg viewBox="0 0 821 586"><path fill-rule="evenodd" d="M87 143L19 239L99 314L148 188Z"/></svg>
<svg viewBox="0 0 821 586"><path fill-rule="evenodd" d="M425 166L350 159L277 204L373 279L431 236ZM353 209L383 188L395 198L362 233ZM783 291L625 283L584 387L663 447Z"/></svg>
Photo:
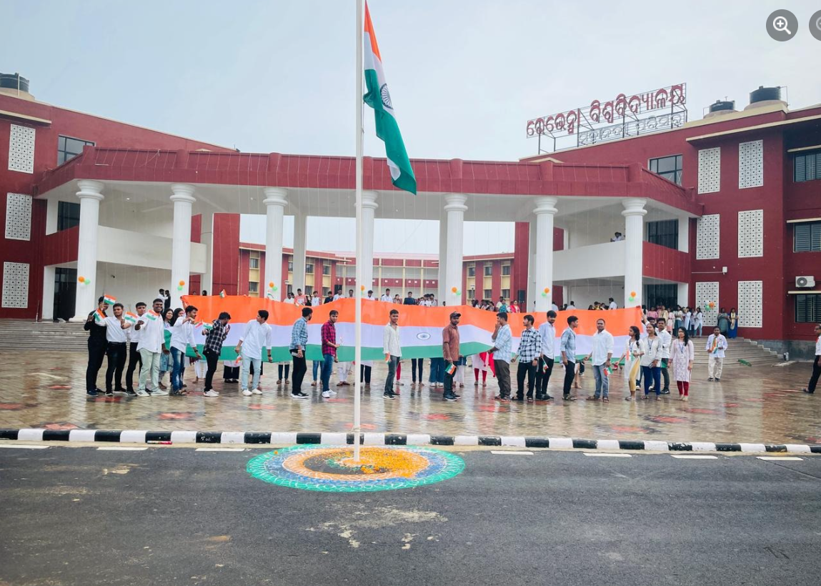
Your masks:
<svg viewBox="0 0 821 586"><path fill-rule="evenodd" d="M0 319L0 350L86 352L88 339L82 323Z"/></svg>

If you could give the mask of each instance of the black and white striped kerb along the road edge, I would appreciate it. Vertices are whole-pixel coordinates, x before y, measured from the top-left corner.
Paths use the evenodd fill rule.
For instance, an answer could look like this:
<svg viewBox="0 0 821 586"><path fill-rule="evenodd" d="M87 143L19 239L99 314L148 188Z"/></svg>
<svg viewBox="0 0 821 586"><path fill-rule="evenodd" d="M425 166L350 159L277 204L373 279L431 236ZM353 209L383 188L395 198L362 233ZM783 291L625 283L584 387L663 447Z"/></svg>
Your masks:
<svg viewBox="0 0 821 586"><path fill-rule="evenodd" d="M148 432L105 429L0 429L0 440L28 442L117 442L172 444L324 444L352 445L353 433L300 432ZM642 440L593 440L574 437L436 436L427 433L360 433L363 446L511 446L577 450L647 451L742 451L821 454L821 446L807 444L659 442Z"/></svg>

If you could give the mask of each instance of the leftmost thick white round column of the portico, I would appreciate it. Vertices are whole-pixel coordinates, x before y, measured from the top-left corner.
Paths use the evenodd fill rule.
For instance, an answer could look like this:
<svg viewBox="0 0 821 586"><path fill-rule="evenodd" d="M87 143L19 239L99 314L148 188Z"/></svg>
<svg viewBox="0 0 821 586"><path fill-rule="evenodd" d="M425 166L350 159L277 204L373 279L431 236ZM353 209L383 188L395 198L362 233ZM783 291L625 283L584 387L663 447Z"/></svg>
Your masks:
<svg viewBox="0 0 821 586"><path fill-rule="evenodd" d="M99 227L100 202L103 200L103 184L99 181L77 181L80 191L80 236L77 244L77 295L72 322L85 322L89 312L97 307L97 229ZM79 282L80 277L89 284Z"/></svg>

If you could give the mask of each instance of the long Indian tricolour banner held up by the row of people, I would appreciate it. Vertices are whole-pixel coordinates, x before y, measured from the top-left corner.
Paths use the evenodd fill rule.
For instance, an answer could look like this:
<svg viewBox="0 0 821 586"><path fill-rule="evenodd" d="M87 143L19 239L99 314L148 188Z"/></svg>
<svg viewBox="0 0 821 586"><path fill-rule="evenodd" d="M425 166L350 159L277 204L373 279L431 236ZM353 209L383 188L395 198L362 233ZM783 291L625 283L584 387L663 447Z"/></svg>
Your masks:
<svg viewBox="0 0 821 586"><path fill-rule="evenodd" d="M302 308L280 301L246 297L244 295L228 295L202 297L186 295L182 298L186 304L194 305L200 310L197 320L204 324L211 323L222 311L231 314L231 331L228 332L225 343L222 345L221 358L236 359L234 348L245 332L245 324L257 316L259 309L268 311L268 325L271 326L270 344L273 359L277 362L290 360L288 349L291 345L291 327L300 319ZM337 321L337 343L342 343L338 351L340 360L348 361L354 358L354 312L355 300L341 299L318 305L308 323L307 359L320 360L320 329L328 321L328 314L333 309L339 312ZM402 358L434 358L442 357L442 331L450 322L453 311L461 313L459 323L461 354L474 355L493 347L493 330L496 327L495 312L475 309L470 305L447 307L422 307L420 305L399 305L383 301L362 301L362 359L384 359L383 333L388 324L391 309L399 311L399 334L402 348ZM544 323L547 316L544 312L534 313L535 327ZM555 323L556 341L553 345L555 354L559 355L559 337L567 327L567 317L576 315L579 318L579 327L576 329L576 355L589 354L591 340L596 332L596 320L605 319L608 332L615 338L613 349L614 358L621 356L627 341L628 330L631 326L641 327L641 309L612 309L609 311L574 310L558 312ZM519 336L523 328L522 318L525 314L508 314L511 331L513 333L513 350L519 346ZM200 350L205 341L204 327L196 327L195 339ZM267 355L262 356L267 358Z"/></svg>

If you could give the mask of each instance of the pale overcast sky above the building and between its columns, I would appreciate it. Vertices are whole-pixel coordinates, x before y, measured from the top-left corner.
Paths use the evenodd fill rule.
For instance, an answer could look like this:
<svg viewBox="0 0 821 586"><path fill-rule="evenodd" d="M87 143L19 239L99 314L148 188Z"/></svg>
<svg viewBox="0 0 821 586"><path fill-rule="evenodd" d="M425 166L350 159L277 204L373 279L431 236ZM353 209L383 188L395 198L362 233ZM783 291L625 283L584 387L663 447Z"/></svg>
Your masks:
<svg viewBox="0 0 821 586"><path fill-rule="evenodd" d="M799 21L786 43L764 28L779 8ZM787 85L791 108L821 102L821 41L807 28L819 8L370 2L410 156L491 160L536 153L530 118L682 81L690 119L718 98L743 108L759 85ZM45 102L243 151L353 155L354 14L352 0L0 0L0 71L20 71ZM365 114L365 153L383 156ZM433 223L378 224L378 251L438 252ZM512 225L500 227L469 224L465 254L511 250ZM317 218L309 232L311 249L354 248L352 223Z"/></svg>

